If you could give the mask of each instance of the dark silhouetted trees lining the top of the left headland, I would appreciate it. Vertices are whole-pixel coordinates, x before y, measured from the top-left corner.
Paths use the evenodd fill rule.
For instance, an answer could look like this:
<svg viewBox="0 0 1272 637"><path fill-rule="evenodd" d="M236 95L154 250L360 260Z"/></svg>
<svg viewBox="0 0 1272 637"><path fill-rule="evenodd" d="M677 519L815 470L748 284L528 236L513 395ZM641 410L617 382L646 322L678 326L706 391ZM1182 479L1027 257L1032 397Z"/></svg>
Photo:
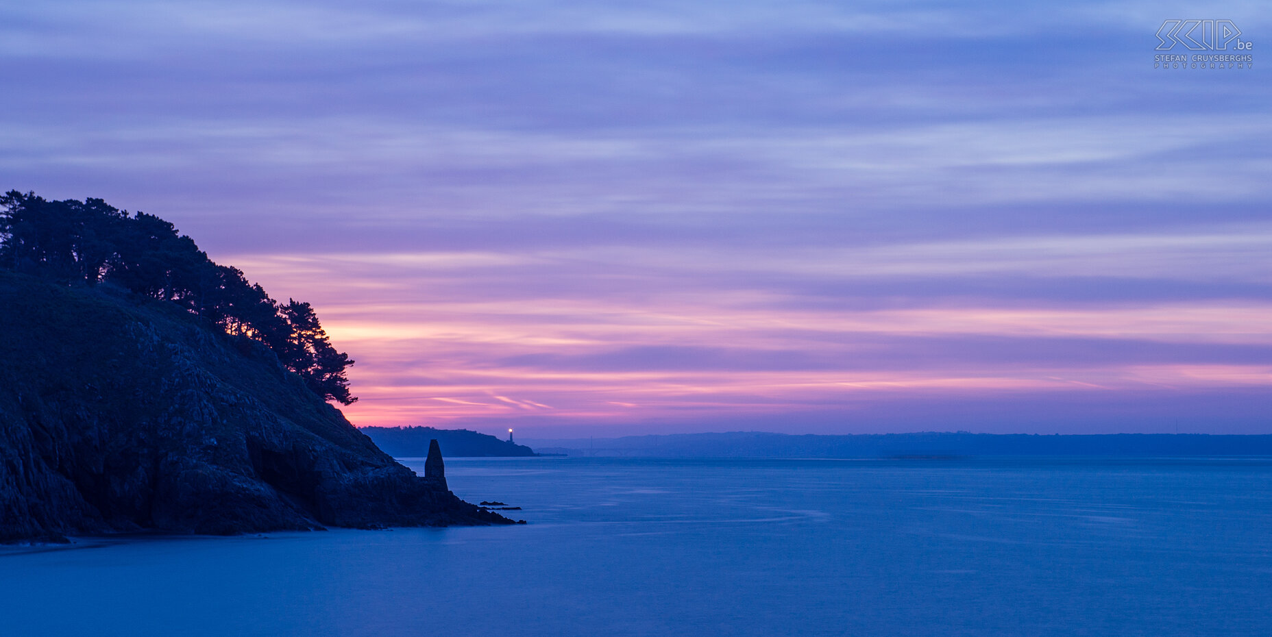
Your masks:
<svg viewBox="0 0 1272 637"><path fill-rule="evenodd" d="M170 301L263 343L323 399L357 399L345 373L354 361L331 345L308 303L271 299L158 216L130 215L99 198L47 201L10 191L0 196L0 270L67 286L113 284Z"/></svg>

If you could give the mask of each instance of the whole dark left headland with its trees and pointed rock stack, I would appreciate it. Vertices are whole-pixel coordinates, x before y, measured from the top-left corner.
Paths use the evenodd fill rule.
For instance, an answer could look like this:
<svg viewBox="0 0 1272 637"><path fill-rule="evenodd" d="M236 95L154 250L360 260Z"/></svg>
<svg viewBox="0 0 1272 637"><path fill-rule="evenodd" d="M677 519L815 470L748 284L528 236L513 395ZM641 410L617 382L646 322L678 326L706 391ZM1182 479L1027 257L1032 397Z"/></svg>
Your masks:
<svg viewBox="0 0 1272 637"><path fill-rule="evenodd" d="M327 403L355 401L352 361L308 304L156 216L0 206L0 542L513 524L446 488L440 450L418 477Z"/></svg>

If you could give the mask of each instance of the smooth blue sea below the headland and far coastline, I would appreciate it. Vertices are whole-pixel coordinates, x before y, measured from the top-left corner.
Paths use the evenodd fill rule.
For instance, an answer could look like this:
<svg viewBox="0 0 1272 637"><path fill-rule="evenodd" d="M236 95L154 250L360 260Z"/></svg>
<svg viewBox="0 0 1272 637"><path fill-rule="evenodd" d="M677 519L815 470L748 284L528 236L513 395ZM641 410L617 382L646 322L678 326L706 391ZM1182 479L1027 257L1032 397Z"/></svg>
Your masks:
<svg viewBox="0 0 1272 637"><path fill-rule="evenodd" d="M1269 460L450 459L446 474L530 524L6 549L0 634L1196 636L1272 619Z"/></svg>

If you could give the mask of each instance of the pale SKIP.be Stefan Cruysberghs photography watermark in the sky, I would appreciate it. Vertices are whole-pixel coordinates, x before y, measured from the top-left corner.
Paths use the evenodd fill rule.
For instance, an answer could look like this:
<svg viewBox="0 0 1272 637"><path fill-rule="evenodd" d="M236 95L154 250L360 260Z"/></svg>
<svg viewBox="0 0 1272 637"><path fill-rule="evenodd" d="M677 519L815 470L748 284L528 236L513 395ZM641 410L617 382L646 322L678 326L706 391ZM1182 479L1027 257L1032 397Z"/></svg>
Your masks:
<svg viewBox="0 0 1272 637"><path fill-rule="evenodd" d="M1253 69L1254 42L1241 39L1233 20L1164 20L1158 28L1158 51L1177 51L1152 56L1154 69ZM1224 51L1188 55L1187 51Z"/></svg>

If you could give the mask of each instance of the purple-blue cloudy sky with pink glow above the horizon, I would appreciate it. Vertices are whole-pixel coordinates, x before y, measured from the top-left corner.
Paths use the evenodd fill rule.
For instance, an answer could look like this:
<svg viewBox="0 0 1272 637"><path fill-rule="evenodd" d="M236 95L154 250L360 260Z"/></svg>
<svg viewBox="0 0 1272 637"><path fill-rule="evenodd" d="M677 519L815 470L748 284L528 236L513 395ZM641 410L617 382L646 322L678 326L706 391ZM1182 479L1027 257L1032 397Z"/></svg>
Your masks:
<svg viewBox="0 0 1272 637"><path fill-rule="evenodd" d="M312 303L359 426L1272 432L1272 81L1154 69L1168 19L1272 45L1262 3L0 0L0 187Z"/></svg>

